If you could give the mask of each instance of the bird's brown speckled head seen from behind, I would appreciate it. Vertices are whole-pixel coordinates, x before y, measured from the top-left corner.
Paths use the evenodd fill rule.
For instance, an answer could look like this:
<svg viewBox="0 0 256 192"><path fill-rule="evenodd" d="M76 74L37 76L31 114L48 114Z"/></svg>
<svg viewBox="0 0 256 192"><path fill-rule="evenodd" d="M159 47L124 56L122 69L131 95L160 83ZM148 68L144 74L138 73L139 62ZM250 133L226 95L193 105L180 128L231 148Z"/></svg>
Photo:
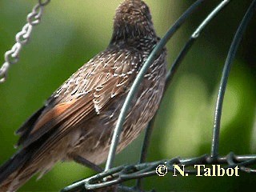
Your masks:
<svg viewBox="0 0 256 192"><path fill-rule="evenodd" d="M111 42L131 38L155 37L150 9L142 0L125 0L114 16Z"/></svg>

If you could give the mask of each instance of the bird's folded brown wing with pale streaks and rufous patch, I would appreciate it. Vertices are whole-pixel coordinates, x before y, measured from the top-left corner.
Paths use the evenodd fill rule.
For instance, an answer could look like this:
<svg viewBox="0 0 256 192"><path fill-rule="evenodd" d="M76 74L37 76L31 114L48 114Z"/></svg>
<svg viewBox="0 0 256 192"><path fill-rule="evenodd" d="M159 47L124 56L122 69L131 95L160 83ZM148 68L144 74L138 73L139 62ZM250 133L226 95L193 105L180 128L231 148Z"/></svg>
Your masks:
<svg viewBox="0 0 256 192"><path fill-rule="evenodd" d="M96 55L17 131L21 134L18 145L29 146L48 134L62 138L79 122L100 114L117 95L126 93L141 62L136 51L106 50Z"/></svg>

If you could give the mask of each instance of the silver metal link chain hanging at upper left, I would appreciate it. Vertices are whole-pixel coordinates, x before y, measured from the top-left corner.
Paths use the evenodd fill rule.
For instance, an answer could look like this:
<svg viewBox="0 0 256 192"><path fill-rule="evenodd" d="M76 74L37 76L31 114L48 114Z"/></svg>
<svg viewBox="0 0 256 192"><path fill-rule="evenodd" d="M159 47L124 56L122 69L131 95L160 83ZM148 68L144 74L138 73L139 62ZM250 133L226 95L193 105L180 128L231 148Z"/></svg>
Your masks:
<svg viewBox="0 0 256 192"><path fill-rule="evenodd" d="M19 53L22 50L22 47L26 45L29 41L33 26L36 26L40 23L42 18L42 12L44 6L46 6L50 0L38 0L38 4L34 6L32 12L27 15L27 23L23 26L22 30L16 34L16 43L14 46L6 51L5 62L0 68L0 83L6 81L7 72L10 68L10 65L17 63L19 60Z"/></svg>

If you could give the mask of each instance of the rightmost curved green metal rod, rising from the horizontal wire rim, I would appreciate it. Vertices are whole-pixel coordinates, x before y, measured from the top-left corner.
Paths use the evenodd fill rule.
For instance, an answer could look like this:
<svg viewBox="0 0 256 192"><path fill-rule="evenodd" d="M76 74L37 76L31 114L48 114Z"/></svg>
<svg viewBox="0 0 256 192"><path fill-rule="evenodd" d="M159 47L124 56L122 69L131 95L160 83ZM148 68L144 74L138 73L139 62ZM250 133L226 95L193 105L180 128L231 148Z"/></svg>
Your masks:
<svg viewBox="0 0 256 192"><path fill-rule="evenodd" d="M256 10L256 0L254 0L248 10L246 11L245 16L242 18L236 34L234 35L233 42L231 43L229 53L226 57L225 66L222 71L222 79L218 90L218 98L216 102L215 115L214 115L214 130L213 130L213 141L211 146L211 158L214 161L218 157L218 144L219 144L219 131L220 123L222 118L222 106L223 99L226 91L226 84L230 74L230 68L234 61L234 56L238 50L238 46L241 42L242 35L246 30L246 26L250 22L254 12Z"/></svg>

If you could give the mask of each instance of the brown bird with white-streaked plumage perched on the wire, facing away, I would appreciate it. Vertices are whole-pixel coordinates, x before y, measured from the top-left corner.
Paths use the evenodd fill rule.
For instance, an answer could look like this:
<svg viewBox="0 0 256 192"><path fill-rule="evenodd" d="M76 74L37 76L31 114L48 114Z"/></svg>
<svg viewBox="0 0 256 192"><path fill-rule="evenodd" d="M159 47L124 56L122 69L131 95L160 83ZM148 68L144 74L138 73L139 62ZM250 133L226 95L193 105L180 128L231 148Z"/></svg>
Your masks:
<svg viewBox="0 0 256 192"><path fill-rule="evenodd" d="M85 165L106 161L126 95L158 41L146 3L122 2L106 50L72 74L18 129L20 150L0 167L0 191L18 190L34 174L45 174L58 161ZM118 152L137 138L154 116L165 77L164 49L133 98Z"/></svg>

